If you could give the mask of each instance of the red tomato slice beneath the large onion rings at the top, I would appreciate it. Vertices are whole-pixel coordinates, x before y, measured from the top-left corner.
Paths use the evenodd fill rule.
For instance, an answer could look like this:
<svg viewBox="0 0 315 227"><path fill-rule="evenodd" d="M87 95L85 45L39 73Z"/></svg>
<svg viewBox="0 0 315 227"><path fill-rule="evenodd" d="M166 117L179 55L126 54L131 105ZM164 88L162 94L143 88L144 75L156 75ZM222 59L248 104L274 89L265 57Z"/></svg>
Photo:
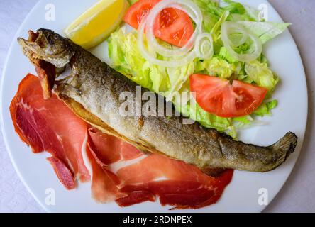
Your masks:
<svg viewBox="0 0 315 227"><path fill-rule="evenodd" d="M161 0L140 0L127 11L123 21L138 29L143 17ZM179 9L163 9L155 19L154 35L161 40L184 46L194 33L194 27L187 13Z"/></svg>

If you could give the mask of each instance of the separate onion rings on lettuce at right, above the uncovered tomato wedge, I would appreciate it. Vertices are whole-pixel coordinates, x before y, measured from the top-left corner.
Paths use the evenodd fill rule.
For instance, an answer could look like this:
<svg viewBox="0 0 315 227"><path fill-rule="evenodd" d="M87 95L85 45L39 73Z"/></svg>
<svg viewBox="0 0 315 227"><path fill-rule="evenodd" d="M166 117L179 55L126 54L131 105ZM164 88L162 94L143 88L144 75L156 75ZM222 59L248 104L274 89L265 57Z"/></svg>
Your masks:
<svg viewBox="0 0 315 227"><path fill-rule="evenodd" d="M242 38L236 43L233 43L229 38L232 33L241 33ZM238 54L233 48L245 43L250 38L253 41L254 50L253 52L246 54ZM221 39L224 47L228 50L228 53L240 62L250 62L257 59L262 53L262 43L257 35L253 34L248 29L244 28L240 23L225 21L221 25Z"/></svg>

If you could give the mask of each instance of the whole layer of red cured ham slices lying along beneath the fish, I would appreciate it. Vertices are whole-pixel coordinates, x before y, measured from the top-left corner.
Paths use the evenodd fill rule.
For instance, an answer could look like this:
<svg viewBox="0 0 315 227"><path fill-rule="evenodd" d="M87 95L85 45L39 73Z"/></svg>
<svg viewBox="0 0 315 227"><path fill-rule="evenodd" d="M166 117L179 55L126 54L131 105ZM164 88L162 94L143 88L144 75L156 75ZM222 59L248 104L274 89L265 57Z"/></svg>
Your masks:
<svg viewBox="0 0 315 227"><path fill-rule="evenodd" d="M43 99L40 81L28 74L20 83L11 117L21 140L33 153L48 151L48 161L66 189L75 179L91 179L99 203L131 206L156 201L173 209L197 209L216 203L233 170L209 177L197 167L157 154L144 154L123 140L101 133L72 113L52 94ZM88 168L87 168L88 167Z"/></svg>

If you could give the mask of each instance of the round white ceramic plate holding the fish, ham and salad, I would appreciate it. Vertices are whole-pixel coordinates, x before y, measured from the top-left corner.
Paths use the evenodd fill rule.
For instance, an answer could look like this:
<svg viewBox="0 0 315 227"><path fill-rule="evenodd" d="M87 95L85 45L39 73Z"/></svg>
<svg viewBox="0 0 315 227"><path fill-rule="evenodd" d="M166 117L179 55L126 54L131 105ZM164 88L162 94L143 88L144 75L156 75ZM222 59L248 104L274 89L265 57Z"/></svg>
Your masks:
<svg viewBox="0 0 315 227"><path fill-rule="evenodd" d="M40 1L33 8L31 13L22 23L16 37L27 37L29 29L50 28L62 34L62 29L71 23L74 18L80 15L95 0L67 0L67 1ZM249 6L257 8L260 4L265 4L268 10L269 21L281 22L282 19L265 0L243 0ZM55 21L45 20L45 7L47 4L55 5ZM272 172L253 173L235 171L231 184L226 187L223 196L217 204L205 207L199 212L231 212L249 211L259 212L265 209L265 205L258 203L258 191L267 189L268 201L275 197L280 191L287 177L297 160L302 146L307 118L307 89L306 79L302 60L289 31L280 35L275 40L265 45L265 55L271 62L272 70L277 72L282 82L277 87L274 94L275 99L279 100L279 106L273 112L272 117L263 118L267 122L266 126L250 128L241 132L241 140L257 145L270 145L275 143L287 131L293 131L299 137L296 152L293 153L287 162ZM34 67L23 56L16 38L13 40L4 67L1 84L1 127L13 162L18 175L28 190L33 194L39 204L46 211L65 212L160 212L168 211L167 207L162 207L158 203L143 203L127 208L120 208L115 203L96 204L90 196L89 183L79 184L77 189L72 191L65 190L55 176L52 167L45 160L47 155L41 153L34 155L18 135L14 132L11 116L9 114L9 104L18 88L18 83L28 72L35 73ZM46 190L55 190L55 205L45 204ZM174 212L174 211L172 211Z"/></svg>

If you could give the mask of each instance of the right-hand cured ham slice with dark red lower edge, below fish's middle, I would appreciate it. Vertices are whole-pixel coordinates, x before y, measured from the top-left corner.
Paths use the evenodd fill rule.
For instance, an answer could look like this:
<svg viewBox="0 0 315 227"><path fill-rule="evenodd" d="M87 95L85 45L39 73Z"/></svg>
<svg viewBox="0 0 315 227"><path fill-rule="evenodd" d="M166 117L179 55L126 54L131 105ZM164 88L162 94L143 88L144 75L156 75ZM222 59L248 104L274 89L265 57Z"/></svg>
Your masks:
<svg viewBox="0 0 315 227"><path fill-rule="evenodd" d="M145 155L132 145L94 128L89 129L87 148L102 167L103 176L116 182L121 192L116 199L119 206L155 201L157 197L160 204L174 209L209 206L219 200L233 175L233 170L226 170L219 177L210 177L182 161L157 154ZM92 192L99 193L93 185Z"/></svg>

